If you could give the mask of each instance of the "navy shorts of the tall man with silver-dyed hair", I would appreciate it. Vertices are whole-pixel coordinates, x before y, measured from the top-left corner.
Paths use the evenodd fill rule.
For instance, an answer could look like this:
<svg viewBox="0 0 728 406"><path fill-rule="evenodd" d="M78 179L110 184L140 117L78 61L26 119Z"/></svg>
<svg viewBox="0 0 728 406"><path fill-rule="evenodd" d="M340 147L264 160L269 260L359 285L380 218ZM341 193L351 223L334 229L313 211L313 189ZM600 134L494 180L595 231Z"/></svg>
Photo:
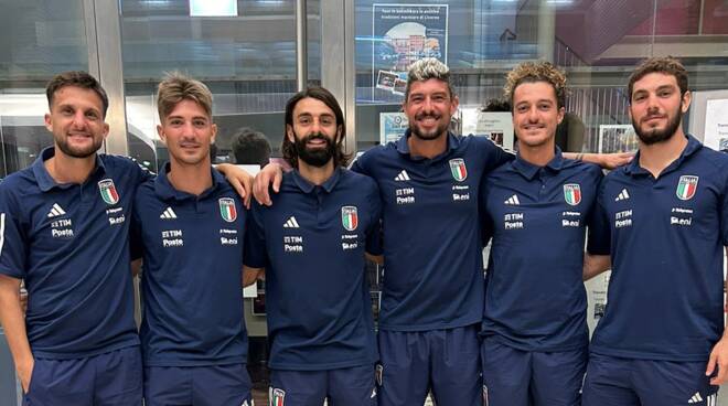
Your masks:
<svg viewBox="0 0 728 406"><path fill-rule="evenodd" d="M478 330L379 331L379 405L481 405Z"/></svg>

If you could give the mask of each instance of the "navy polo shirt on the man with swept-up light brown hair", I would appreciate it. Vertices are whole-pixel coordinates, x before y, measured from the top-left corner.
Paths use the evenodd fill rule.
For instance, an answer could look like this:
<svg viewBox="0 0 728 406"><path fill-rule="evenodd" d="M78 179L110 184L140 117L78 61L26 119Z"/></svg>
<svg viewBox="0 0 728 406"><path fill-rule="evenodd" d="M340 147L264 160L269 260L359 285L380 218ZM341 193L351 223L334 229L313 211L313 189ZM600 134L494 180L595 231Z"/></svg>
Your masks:
<svg viewBox="0 0 728 406"><path fill-rule="evenodd" d="M212 168L213 185L200 196L175 190L169 168L139 188L132 217L143 257L144 364L245 363L245 206Z"/></svg>

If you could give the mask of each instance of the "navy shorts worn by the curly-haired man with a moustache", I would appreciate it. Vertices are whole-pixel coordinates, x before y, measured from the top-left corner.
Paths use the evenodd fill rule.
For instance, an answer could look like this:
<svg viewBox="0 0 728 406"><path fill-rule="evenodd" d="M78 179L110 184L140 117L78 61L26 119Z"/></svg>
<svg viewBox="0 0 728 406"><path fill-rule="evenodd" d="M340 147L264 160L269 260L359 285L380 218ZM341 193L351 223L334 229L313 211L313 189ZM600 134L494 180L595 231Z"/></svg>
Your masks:
<svg viewBox="0 0 728 406"><path fill-rule="evenodd" d="M488 338L481 344L483 398L488 406L579 406L587 348L522 351Z"/></svg>

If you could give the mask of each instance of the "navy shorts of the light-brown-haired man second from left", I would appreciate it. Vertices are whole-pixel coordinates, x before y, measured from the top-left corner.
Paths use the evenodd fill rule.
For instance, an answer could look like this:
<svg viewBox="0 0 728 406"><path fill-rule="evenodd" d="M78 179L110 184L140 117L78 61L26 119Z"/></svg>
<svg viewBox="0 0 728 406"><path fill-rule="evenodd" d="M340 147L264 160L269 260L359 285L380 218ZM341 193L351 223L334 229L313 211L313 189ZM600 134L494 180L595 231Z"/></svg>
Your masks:
<svg viewBox="0 0 728 406"><path fill-rule="evenodd" d="M250 388L245 364L144 367L146 406L249 405Z"/></svg>

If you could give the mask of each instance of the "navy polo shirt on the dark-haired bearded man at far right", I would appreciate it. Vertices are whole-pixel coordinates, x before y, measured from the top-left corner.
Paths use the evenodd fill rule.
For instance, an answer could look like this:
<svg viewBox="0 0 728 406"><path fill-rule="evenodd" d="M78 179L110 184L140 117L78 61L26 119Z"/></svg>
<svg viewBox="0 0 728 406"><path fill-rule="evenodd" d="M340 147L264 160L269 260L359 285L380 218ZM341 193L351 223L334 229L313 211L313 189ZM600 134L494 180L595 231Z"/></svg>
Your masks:
<svg viewBox="0 0 728 406"><path fill-rule="evenodd" d="M687 140L657 179L639 153L604 178L612 275L595 353L706 361L722 334L728 156Z"/></svg>

